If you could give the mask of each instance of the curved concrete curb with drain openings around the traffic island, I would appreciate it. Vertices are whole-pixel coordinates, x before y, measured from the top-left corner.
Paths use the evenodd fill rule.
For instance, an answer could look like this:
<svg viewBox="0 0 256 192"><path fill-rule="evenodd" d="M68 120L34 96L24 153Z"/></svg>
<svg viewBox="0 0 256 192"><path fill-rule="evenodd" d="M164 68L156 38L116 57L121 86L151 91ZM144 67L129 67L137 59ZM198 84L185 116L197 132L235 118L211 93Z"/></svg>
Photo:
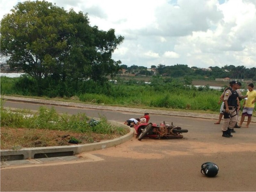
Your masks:
<svg viewBox="0 0 256 192"><path fill-rule="evenodd" d="M21 148L19 150L2 149L1 161L76 155L86 151L93 151L93 150L114 147L116 145L120 145L121 143L124 143L133 138L134 130L129 126L115 122L115 121L109 121L109 120L108 120L108 123L119 126L119 127L123 127L124 129L128 129L130 130L130 132L124 136L121 136L113 140L102 141L98 143L83 144L83 145Z"/></svg>

